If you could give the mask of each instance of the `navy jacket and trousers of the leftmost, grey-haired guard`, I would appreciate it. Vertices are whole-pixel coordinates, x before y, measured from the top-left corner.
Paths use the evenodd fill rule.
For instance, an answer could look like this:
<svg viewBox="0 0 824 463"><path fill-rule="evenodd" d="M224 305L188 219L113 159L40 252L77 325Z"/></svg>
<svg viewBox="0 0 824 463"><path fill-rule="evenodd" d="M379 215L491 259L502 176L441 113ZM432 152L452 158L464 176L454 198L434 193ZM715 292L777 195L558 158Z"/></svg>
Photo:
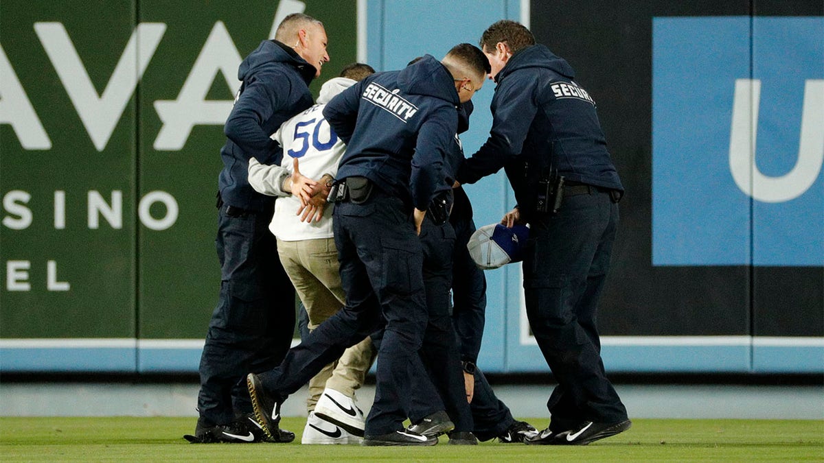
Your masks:
<svg viewBox="0 0 824 463"><path fill-rule="evenodd" d="M292 49L265 40L241 63L241 92L229 115L221 150L218 306L200 358L198 409L205 424L251 413L246 373L279 364L295 325L294 288L269 232L274 199L249 185L249 158L271 164L282 156L270 133L312 105L307 85L315 68Z"/></svg>

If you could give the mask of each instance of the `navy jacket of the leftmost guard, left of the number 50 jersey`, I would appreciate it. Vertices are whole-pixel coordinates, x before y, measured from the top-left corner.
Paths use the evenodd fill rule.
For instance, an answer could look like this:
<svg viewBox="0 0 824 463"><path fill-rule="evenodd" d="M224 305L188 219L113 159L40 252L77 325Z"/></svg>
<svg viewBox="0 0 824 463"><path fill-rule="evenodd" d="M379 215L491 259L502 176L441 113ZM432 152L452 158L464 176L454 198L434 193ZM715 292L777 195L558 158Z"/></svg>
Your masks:
<svg viewBox="0 0 824 463"><path fill-rule="evenodd" d="M223 127L228 139L220 151L223 169L218 186L224 203L271 210L274 198L249 185L249 158L261 164L279 163L283 151L269 135L312 105L308 85L315 72L293 49L275 40L264 40L243 60L237 71L241 90Z"/></svg>

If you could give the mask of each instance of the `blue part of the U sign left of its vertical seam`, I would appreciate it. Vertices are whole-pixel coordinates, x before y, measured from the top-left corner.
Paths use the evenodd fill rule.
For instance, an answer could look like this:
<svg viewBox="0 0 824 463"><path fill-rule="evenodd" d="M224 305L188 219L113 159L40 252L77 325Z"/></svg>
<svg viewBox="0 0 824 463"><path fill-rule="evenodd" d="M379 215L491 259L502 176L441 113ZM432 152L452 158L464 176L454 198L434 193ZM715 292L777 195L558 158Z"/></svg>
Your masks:
<svg viewBox="0 0 824 463"><path fill-rule="evenodd" d="M749 50L747 16L653 19L653 265L750 264L750 199L728 167Z"/></svg>

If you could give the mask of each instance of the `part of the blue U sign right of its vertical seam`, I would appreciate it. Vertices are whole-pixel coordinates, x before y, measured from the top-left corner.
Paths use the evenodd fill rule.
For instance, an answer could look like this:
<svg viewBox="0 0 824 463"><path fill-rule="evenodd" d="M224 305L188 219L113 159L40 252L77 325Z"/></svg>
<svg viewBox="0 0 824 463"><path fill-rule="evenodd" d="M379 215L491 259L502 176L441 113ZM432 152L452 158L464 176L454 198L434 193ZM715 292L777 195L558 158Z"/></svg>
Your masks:
<svg viewBox="0 0 824 463"><path fill-rule="evenodd" d="M752 79L752 264L822 266L824 17L753 18Z"/></svg>

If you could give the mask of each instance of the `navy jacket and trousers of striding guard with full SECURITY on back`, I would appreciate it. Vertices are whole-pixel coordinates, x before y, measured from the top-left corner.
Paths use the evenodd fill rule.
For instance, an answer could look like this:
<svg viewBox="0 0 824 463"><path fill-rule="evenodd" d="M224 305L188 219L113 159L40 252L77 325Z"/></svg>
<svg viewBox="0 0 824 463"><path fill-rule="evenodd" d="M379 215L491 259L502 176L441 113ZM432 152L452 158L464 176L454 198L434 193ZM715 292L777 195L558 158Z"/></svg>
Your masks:
<svg viewBox="0 0 824 463"><path fill-rule="evenodd" d="M401 71L349 87L323 115L347 145L338 180L367 178L368 199L335 205L335 245L346 305L291 349L279 368L258 377L282 401L345 348L386 319L367 436L402 430L443 410L418 350L427 323L420 240L409 217L425 210L442 181L444 150L455 135L452 76L427 55ZM347 185L349 186L349 185Z"/></svg>

